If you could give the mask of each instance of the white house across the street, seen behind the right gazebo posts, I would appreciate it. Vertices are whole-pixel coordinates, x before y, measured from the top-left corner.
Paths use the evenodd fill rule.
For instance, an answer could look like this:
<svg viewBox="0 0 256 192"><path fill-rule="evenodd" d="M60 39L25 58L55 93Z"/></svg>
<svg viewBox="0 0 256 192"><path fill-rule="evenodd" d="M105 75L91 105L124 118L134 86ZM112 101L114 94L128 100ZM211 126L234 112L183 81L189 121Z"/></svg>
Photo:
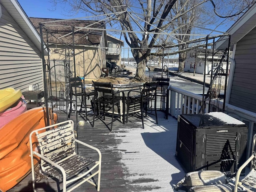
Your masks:
<svg viewBox="0 0 256 192"><path fill-rule="evenodd" d="M220 59L222 58L223 52L214 52L212 56L212 50L209 50L206 59L206 74L210 74L213 63L213 71L218 66ZM213 62L212 62L213 60ZM184 72L194 72L198 74L204 74L204 64L205 64L205 49L193 49L187 51L187 58L185 60ZM226 72L226 59L222 62L222 69Z"/></svg>

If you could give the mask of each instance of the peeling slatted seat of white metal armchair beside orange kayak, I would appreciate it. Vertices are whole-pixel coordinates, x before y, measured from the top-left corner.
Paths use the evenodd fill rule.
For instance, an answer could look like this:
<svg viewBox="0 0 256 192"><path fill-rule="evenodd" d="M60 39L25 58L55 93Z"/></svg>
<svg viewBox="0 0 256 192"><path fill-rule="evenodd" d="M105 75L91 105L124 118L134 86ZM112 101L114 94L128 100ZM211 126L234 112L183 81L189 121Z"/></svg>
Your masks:
<svg viewBox="0 0 256 192"><path fill-rule="evenodd" d="M73 176L79 174L82 172L84 169L86 169L88 166L91 164L94 164L95 161L82 157L80 155L74 155L71 156L70 158L64 160L63 162L57 163L58 165L62 166L64 170L66 171L67 179L72 178ZM55 177L58 180L62 180L62 173L60 170L58 170L55 167L48 167L45 170L45 173Z"/></svg>

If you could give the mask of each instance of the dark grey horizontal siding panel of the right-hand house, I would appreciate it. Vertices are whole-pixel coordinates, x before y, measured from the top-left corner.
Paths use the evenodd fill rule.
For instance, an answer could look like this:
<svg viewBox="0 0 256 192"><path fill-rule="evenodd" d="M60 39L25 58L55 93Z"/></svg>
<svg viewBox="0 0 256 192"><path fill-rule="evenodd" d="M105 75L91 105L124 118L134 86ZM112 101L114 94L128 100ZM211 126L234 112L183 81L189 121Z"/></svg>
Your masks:
<svg viewBox="0 0 256 192"><path fill-rule="evenodd" d="M256 28L236 45L236 62L229 104L256 113Z"/></svg>

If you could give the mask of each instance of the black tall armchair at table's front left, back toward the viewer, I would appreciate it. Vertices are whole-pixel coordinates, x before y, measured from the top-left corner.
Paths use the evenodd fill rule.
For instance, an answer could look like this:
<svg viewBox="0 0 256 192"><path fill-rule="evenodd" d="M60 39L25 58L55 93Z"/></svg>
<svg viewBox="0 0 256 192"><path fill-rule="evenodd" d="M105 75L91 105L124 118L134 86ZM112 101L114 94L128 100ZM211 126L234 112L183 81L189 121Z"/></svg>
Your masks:
<svg viewBox="0 0 256 192"><path fill-rule="evenodd" d="M92 85L94 86L94 114L93 114L93 123L92 127L94 127L94 122L97 119L102 120L104 124L106 124L105 116L106 114L112 113L112 120L110 131L112 131L113 122L120 118L120 121L124 123L124 114L125 114L125 97L124 92L115 91L113 85L111 83L103 83L103 82L94 82L92 81ZM121 106L122 104L122 112ZM117 111L115 111L115 106ZM96 116L97 114L97 116ZM114 116L116 116L114 118ZM121 119L122 118L122 119ZM108 126L108 124L106 124Z"/></svg>

